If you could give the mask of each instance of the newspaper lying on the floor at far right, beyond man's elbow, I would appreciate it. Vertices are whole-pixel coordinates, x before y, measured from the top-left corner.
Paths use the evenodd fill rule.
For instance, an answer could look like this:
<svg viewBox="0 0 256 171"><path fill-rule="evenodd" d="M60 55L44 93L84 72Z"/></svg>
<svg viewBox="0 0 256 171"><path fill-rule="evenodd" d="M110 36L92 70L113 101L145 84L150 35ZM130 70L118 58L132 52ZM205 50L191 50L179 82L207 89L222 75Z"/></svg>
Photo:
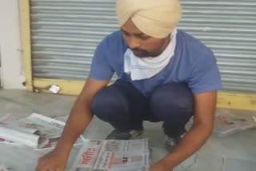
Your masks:
<svg viewBox="0 0 256 171"><path fill-rule="evenodd" d="M218 137L223 137L246 129L254 128L256 123L255 121L249 121L245 118L225 113L215 117L214 126L214 134Z"/></svg>

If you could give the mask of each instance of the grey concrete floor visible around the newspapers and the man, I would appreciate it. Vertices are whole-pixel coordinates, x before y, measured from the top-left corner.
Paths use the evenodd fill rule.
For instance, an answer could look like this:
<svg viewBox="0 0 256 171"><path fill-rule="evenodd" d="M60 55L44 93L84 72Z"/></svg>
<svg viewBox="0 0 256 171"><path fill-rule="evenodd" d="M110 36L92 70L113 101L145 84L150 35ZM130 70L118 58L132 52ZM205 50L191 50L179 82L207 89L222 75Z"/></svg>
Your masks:
<svg viewBox="0 0 256 171"><path fill-rule="evenodd" d="M49 117L65 116L69 114L74 100L75 97L30 93L24 90L0 90L0 117L6 113L20 116L30 113L42 113ZM256 114L219 109L218 113L221 112L235 113L243 117ZM84 135L86 138L104 139L112 129L110 125L94 118ZM153 164L167 153L164 148L165 137L161 123L145 122L145 129L142 137L150 139ZM67 170L79 148L73 149ZM35 152L30 148L0 145L0 165L10 165L14 171L32 171L38 157L44 153L46 151ZM256 171L256 129L229 137L211 137L198 153L184 161L175 171Z"/></svg>

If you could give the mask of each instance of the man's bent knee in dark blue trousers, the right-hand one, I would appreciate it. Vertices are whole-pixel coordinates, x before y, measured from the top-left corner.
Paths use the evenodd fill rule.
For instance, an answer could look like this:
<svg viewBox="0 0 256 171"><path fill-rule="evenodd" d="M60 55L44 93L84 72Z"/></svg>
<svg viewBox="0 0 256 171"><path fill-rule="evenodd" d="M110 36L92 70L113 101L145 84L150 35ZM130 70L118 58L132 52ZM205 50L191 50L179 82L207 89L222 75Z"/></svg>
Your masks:
<svg viewBox="0 0 256 171"><path fill-rule="evenodd" d="M193 113L193 95L184 84L170 83L159 86L150 97L150 107L154 115Z"/></svg>

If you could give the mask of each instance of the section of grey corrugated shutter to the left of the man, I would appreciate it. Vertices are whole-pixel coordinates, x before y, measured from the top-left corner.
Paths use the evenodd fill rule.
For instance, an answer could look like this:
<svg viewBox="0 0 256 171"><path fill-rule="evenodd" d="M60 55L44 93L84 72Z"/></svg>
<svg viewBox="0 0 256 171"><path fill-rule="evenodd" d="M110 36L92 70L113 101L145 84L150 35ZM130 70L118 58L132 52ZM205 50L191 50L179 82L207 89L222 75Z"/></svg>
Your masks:
<svg viewBox="0 0 256 171"><path fill-rule="evenodd" d="M85 80L98 43L118 30L113 0L31 0L34 78Z"/></svg>

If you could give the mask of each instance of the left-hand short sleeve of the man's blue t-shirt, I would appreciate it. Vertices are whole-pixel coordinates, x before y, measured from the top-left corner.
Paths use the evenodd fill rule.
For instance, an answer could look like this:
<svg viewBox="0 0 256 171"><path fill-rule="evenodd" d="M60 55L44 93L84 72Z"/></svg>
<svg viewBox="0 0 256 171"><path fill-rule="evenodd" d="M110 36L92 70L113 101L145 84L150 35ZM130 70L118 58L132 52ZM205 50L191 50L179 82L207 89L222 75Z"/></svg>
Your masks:
<svg viewBox="0 0 256 171"><path fill-rule="evenodd" d="M94 58L90 66L90 78L106 81L110 80L114 74L114 70L110 66L107 56L106 40L103 40L94 52Z"/></svg>

